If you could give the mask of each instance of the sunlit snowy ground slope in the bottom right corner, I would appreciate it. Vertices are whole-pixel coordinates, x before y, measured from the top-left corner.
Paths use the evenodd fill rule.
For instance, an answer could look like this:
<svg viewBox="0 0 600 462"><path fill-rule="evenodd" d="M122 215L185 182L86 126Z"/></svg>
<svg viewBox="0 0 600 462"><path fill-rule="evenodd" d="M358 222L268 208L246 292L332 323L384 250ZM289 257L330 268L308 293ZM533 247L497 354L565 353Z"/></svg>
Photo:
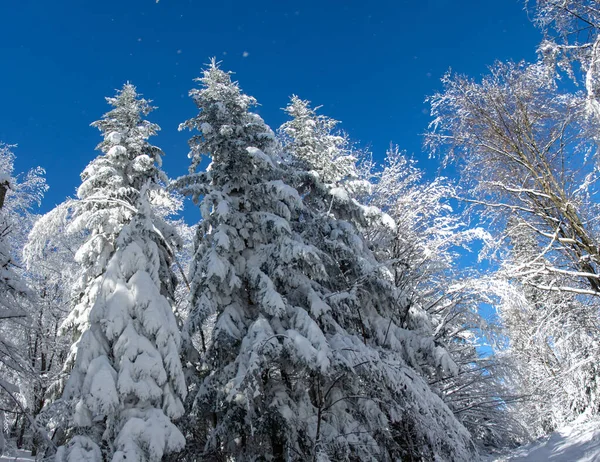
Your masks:
<svg viewBox="0 0 600 462"><path fill-rule="evenodd" d="M600 462L600 420L574 423L489 462Z"/></svg>

